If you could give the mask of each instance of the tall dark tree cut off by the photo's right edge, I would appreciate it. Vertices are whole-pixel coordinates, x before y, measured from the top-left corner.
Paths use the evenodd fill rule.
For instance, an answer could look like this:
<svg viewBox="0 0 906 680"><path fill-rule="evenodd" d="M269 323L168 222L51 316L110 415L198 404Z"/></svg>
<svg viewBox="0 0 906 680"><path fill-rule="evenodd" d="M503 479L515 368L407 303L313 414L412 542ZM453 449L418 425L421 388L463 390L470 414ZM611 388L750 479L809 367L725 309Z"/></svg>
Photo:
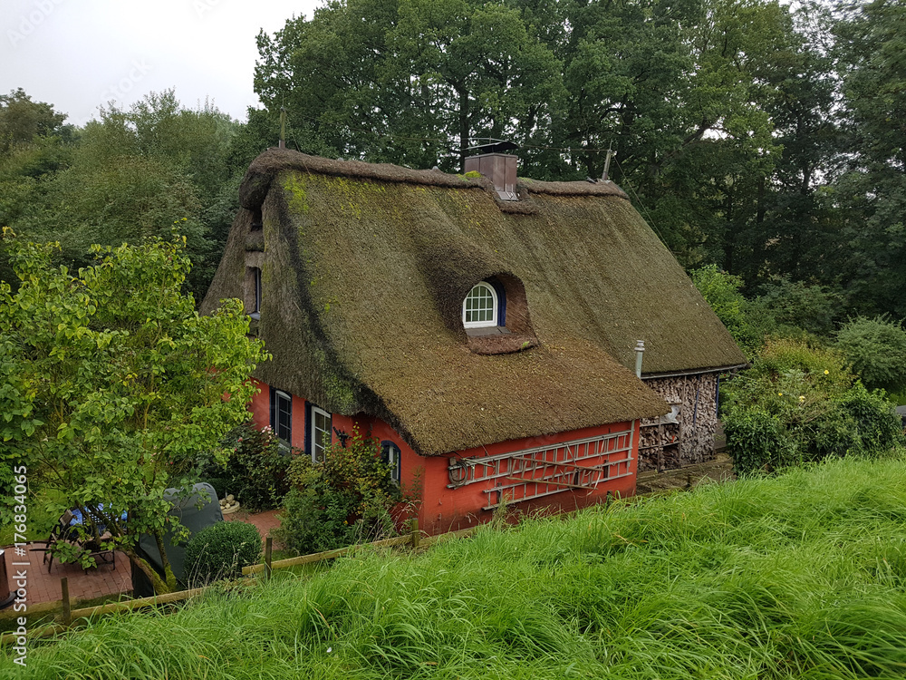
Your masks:
<svg viewBox="0 0 906 680"><path fill-rule="evenodd" d="M843 272L857 310L906 316L906 6L842 5L835 26L850 163L834 183L846 211Z"/></svg>

